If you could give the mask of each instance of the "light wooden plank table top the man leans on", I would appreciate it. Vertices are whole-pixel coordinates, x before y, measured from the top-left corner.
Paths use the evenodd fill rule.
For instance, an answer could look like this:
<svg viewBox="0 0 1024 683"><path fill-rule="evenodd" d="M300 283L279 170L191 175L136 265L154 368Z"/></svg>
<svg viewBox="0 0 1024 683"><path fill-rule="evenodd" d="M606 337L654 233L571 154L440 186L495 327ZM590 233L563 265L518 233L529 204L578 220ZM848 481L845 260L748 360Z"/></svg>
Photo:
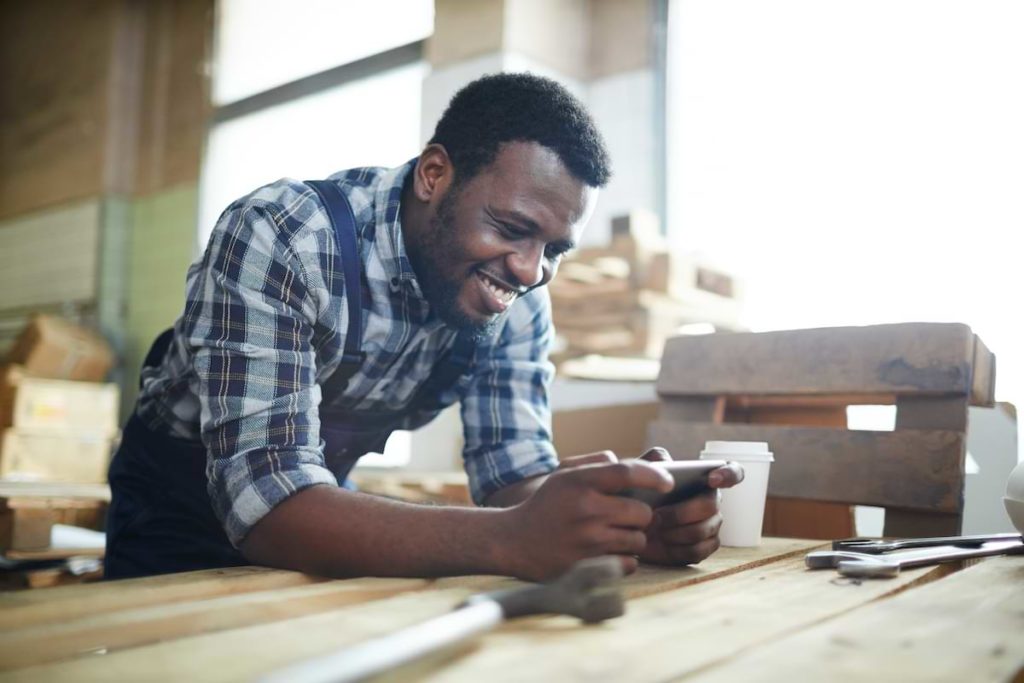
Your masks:
<svg viewBox="0 0 1024 683"><path fill-rule="evenodd" d="M398 681L1013 681L1024 557L861 583L766 539L697 567L642 567L627 613L508 622ZM251 681L416 624L493 577L325 581L260 567L0 595L0 681ZM389 679L390 680L390 679Z"/></svg>

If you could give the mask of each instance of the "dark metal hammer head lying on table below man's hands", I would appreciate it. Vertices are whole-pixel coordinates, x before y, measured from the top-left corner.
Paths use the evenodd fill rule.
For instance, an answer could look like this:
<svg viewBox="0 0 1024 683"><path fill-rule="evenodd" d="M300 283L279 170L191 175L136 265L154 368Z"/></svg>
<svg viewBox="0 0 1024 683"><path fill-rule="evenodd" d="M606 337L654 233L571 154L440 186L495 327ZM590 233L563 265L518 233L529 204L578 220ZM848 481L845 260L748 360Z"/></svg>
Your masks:
<svg viewBox="0 0 1024 683"><path fill-rule="evenodd" d="M494 600L506 618L567 614L596 624L625 613L622 579L623 563L617 557L592 557L577 562L550 584L487 593L471 601Z"/></svg>

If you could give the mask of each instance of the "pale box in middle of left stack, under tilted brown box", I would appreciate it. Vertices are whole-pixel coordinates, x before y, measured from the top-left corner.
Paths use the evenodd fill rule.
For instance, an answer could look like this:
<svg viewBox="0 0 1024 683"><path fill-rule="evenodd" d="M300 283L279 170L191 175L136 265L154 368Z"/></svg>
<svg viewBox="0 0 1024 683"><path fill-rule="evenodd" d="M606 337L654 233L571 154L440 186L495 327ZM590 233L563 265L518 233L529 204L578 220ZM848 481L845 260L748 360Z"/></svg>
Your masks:
<svg viewBox="0 0 1024 683"><path fill-rule="evenodd" d="M27 434L113 438L118 433L118 386L32 377L0 367L0 428Z"/></svg>

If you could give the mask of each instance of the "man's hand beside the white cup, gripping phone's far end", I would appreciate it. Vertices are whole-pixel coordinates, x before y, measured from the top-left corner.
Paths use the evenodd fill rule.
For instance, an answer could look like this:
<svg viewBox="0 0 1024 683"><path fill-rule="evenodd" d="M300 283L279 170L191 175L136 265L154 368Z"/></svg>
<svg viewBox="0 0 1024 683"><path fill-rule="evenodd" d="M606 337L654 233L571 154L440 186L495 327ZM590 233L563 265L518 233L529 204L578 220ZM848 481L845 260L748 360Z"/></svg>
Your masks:
<svg viewBox="0 0 1024 683"><path fill-rule="evenodd" d="M651 449L641 459L672 460L665 449ZM717 489L734 486L742 480L742 469L729 464L708 475L708 483L716 490L656 508L645 529L647 543L640 559L653 564L696 564L718 550L722 515L718 511Z"/></svg>

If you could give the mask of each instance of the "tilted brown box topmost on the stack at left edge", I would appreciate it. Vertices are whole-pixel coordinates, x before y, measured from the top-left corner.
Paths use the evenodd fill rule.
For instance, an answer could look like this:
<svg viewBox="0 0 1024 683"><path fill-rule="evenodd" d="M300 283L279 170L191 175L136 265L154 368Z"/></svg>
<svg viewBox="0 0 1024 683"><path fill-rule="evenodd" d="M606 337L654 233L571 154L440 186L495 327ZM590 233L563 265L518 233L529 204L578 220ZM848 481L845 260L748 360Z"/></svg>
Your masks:
<svg viewBox="0 0 1024 683"><path fill-rule="evenodd" d="M114 351L91 330L36 314L14 341L7 361L36 377L101 382L114 366Z"/></svg>

